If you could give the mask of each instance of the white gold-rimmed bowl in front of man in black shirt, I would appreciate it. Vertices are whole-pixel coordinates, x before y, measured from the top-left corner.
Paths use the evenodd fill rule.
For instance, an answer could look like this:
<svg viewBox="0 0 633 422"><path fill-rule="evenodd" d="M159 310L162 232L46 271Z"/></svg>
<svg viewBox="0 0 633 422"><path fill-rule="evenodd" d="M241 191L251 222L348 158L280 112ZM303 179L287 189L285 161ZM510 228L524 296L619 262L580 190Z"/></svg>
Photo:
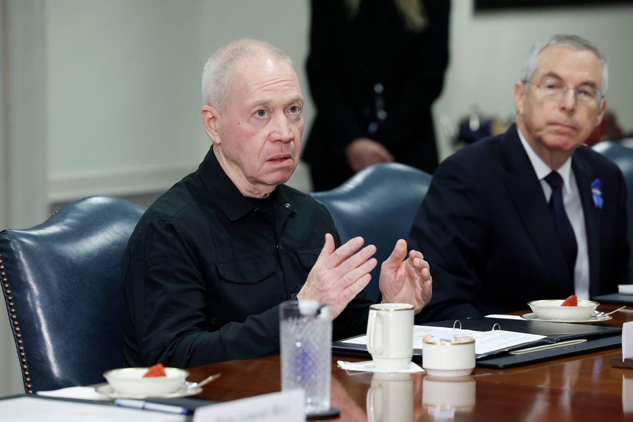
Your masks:
<svg viewBox="0 0 633 422"><path fill-rule="evenodd" d="M178 368L165 368L166 376L143 378L149 368L112 369L103 373L104 378L115 392L129 395L155 397L173 393L185 388L189 372Z"/></svg>

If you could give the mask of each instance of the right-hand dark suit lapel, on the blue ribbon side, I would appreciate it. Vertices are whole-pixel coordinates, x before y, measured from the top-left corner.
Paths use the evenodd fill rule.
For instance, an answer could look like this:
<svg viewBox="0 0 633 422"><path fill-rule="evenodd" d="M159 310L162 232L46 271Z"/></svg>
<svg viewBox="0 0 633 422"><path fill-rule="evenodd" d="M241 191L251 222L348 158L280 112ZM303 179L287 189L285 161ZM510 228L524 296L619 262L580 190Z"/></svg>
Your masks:
<svg viewBox="0 0 633 422"><path fill-rule="evenodd" d="M584 148L584 147L580 147ZM591 196L591 182L594 179L589 163L575 153L572 156L572 169L578 184L580 203L585 217L587 231L587 252L589 253L589 297L598 295L600 266L600 210L594 207Z"/></svg>

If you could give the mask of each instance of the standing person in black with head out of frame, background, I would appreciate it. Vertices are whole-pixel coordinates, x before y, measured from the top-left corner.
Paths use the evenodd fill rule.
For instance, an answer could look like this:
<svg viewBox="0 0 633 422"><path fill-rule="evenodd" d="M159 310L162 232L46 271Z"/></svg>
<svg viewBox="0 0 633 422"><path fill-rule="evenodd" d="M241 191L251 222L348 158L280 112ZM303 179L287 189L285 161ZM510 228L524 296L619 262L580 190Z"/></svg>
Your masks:
<svg viewBox="0 0 633 422"><path fill-rule="evenodd" d="M317 115L304 160L313 189L372 164L432 173L431 116L448 64L448 0L313 0L308 77Z"/></svg>

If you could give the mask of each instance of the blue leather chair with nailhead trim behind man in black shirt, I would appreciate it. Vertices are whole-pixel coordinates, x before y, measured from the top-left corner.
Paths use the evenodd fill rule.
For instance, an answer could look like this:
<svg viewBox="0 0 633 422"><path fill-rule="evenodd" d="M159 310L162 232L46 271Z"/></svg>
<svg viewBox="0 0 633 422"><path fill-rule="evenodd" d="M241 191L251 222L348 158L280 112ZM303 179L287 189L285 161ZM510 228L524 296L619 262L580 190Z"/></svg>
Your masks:
<svg viewBox="0 0 633 422"><path fill-rule="evenodd" d="M144 208L91 196L0 232L3 293L27 393L99 383L123 366L120 260Z"/></svg>

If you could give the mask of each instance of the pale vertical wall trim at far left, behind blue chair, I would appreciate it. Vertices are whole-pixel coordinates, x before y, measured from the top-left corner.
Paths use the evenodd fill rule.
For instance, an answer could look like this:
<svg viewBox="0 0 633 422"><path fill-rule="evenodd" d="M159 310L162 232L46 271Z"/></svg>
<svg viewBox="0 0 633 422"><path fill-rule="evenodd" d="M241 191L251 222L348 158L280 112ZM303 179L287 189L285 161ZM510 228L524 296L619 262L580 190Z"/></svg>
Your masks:
<svg viewBox="0 0 633 422"><path fill-rule="evenodd" d="M0 229L30 227L47 216L45 32L40 1L0 0ZM13 279L10 268L1 269L4 296ZM6 395L24 390L1 307L0 395ZM15 310L18 319L23 311Z"/></svg>

